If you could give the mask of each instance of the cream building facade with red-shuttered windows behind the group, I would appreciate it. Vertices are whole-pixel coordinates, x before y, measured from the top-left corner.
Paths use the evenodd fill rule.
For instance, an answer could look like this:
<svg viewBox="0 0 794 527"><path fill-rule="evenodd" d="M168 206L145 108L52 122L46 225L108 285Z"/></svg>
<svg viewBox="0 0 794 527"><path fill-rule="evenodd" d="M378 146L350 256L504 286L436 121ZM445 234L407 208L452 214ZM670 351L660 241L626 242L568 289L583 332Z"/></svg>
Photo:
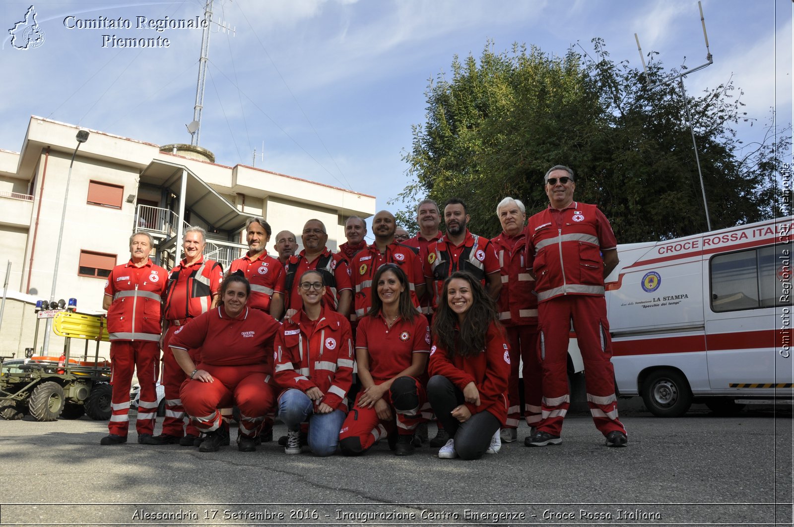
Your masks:
<svg viewBox="0 0 794 527"><path fill-rule="evenodd" d="M0 150L0 273L8 281L0 356L21 357L33 347L33 306L50 298L64 206L56 300L77 298L78 310L88 314L101 312L105 277L129 259L134 232L152 234L152 260L170 268L182 256L184 229L200 226L207 231L205 255L227 268L247 250L249 217L264 217L274 237L291 230L299 243L303 224L317 218L326 224L329 248L336 249L345 240L346 217L375 213L373 196L240 164L227 167L190 145L161 147L88 130L75 155L78 131L34 116L21 151ZM39 335L37 353L42 340ZM60 354L62 346L52 337L45 354Z"/></svg>

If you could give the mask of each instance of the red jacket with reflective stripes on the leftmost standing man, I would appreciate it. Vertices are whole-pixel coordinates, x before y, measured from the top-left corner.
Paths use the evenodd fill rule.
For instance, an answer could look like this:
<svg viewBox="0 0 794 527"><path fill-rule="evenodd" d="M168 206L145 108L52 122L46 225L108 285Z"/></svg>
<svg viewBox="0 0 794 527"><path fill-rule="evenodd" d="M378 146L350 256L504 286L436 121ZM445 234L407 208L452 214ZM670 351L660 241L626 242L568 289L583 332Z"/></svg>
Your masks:
<svg viewBox="0 0 794 527"><path fill-rule="evenodd" d="M105 294L113 297L107 310L110 340L160 341L160 302L168 283L168 271L148 260L143 267L133 260L117 265L105 282Z"/></svg>

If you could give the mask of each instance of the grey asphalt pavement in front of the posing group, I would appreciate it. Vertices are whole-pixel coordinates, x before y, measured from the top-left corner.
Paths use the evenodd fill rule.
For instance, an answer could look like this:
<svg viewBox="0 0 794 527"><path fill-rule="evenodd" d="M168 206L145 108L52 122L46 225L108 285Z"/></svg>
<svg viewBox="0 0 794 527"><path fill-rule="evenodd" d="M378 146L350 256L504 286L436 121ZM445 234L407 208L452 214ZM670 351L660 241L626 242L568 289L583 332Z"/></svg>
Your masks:
<svg viewBox="0 0 794 527"><path fill-rule="evenodd" d="M238 452L234 428L220 452L134 432L100 446L106 423L88 417L0 420L0 525L792 525L791 405L621 418L627 448L569 414L561 445L525 447L522 425L476 461L385 442L357 458Z"/></svg>

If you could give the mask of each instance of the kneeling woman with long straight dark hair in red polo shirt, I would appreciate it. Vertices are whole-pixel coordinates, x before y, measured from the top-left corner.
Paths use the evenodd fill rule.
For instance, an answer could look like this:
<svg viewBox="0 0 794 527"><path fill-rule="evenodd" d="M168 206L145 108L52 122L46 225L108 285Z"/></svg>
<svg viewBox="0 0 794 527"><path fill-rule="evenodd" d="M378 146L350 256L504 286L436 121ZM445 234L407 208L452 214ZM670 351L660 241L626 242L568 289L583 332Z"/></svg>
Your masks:
<svg viewBox="0 0 794 527"><path fill-rule="evenodd" d="M414 450L414 429L431 417L420 380L426 378L430 328L411 302L398 265L382 265L372 284L372 307L356 333L362 390L342 425L339 448L345 456L358 456L389 437L395 454L407 456Z"/></svg>

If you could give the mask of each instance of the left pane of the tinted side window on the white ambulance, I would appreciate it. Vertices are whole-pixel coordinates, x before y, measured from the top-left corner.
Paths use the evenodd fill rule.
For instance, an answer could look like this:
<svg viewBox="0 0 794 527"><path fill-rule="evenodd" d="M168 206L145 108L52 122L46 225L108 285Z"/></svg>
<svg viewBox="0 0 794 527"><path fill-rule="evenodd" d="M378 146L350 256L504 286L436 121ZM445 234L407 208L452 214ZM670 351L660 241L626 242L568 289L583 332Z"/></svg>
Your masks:
<svg viewBox="0 0 794 527"><path fill-rule="evenodd" d="M732 252L711 259L711 310L736 311L758 307L755 250Z"/></svg>

